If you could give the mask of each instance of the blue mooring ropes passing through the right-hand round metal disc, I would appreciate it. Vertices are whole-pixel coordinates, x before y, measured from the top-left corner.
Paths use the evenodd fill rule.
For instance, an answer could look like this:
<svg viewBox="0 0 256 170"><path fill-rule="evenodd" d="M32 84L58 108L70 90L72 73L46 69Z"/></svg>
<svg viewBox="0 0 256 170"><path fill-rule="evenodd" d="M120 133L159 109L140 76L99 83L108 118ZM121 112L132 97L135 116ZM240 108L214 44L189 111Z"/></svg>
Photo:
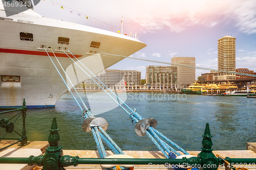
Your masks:
<svg viewBox="0 0 256 170"><path fill-rule="evenodd" d="M63 50L62 50L63 51ZM76 63L65 51L63 51L74 63ZM69 50L68 52L78 61L80 62ZM81 63L81 62L80 62ZM81 68L81 70L86 73L86 75L92 79L106 94L108 94L110 96L110 98L115 101L119 107L121 107L127 114L130 115L130 117L132 117L132 119L134 120L134 122L138 122L139 120L142 120L143 118L136 112L133 111L129 106L127 106L112 90L110 90L104 83L102 83L94 74L93 72L91 72L83 63L81 63L84 68L86 68L106 89L108 89L127 109L129 109L130 111L132 111L132 113L129 113L125 108L123 108L108 92L106 92L84 69L82 69L77 63L76 65ZM152 127L151 127L152 128ZM154 129L154 128L153 128ZM154 129L154 131L157 131ZM158 132L158 131L157 131ZM160 132L158 132L160 133ZM170 150L175 151L172 147L170 147L167 143L163 142L162 139L160 139L154 132L152 132L152 134L155 134L154 137L159 141L159 143L162 145L162 147L165 149L166 152L163 151L163 149L160 147L160 145L157 143L157 141L153 138L153 136L151 135L151 133L148 131L148 129L146 130L146 134L148 135L148 137L151 138L151 140L157 145L157 147L160 149L160 151L164 154L164 156L166 158L169 158L168 155L166 154L170 152ZM161 134L161 133L160 133ZM163 136L163 135L162 135ZM170 140L169 140L170 141ZM171 144L173 144L175 147L177 147L178 145L174 142L172 142ZM188 154L186 151L184 151L182 148L177 147L177 149L179 149L180 151L182 151L184 154ZM177 154L178 156L180 155L180 153L178 153L177 151L175 152L175 154Z"/></svg>

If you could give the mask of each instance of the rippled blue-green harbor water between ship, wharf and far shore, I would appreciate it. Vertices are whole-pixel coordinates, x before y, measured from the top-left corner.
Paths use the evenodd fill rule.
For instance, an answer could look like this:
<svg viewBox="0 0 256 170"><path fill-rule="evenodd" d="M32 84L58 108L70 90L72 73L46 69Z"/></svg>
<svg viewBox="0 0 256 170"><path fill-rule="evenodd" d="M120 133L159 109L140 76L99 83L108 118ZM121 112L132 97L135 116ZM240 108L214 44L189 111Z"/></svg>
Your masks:
<svg viewBox="0 0 256 170"><path fill-rule="evenodd" d="M79 94L93 113L94 108L98 109L95 111L96 117L103 117L108 121L109 128L106 132L122 150L158 150L149 137L136 135L135 123L133 125L129 115L116 107L117 104L114 107L108 106L108 102L112 101L103 92ZM93 97L88 100L90 94ZM255 99L160 92L129 92L121 95L125 95L125 103L132 109L136 108L143 118L155 118L156 129L186 151L201 150L206 123L209 123L213 136L214 150L246 150L246 142L256 142ZM93 104L90 101L97 104L97 107L91 106ZM9 119L15 114L2 114L0 119ZM97 150L93 135L81 129L84 119L69 92L61 96L55 108L27 111L28 140L48 140L53 116L57 119L60 145L63 149ZM14 130L22 134L21 117L14 126ZM4 134L5 129L1 128L0 136ZM13 136L16 137L17 134L13 132L6 135Z"/></svg>

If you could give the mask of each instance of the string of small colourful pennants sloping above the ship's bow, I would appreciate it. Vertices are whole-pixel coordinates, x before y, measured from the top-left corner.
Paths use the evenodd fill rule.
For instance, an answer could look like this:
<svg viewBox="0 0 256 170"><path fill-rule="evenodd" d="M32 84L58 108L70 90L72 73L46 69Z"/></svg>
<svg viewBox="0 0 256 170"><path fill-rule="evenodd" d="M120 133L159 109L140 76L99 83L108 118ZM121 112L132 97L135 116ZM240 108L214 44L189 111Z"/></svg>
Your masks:
<svg viewBox="0 0 256 170"><path fill-rule="evenodd" d="M81 13L81 12L78 12L78 11L76 11L76 10L73 10L73 9L71 9L71 8L69 8L69 7L63 6L63 5L61 5L61 4L59 4L59 3L55 2L55 1L52 1L52 0L48 0L48 1L50 1L50 2L48 2L48 1L46 1L46 0L43 0L43 1L44 1L44 2L47 2L47 3L50 3L50 4L54 5L54 6L57 6L57 7L61 8L62 10L66 10L66 11L72 13L72 14L77 14L79 17L82 17L82 18L85 18L85 19L94 21L95 23L102 25L102 27L109 27L110 30L113 30L113 31L116 31L116 32L120 33L120 29L118 29L118 28L116 28L116 27L114 27L114 26L111 26L111 25L109 25L108 23L102 22L102 21L100 21L100 20L98 20L98 19L95 19L95 18L93 18L93 17L89 17L89 16L86 15L86 14L83 14L83 13ZM123 17L122 17L122 19L121 19L121 23L122 23L122 22L123 22ZM132 36L132 35L131 35L131 32L128 32L128 31L125 31L124 35L130 35L130 36Z"/></svg>

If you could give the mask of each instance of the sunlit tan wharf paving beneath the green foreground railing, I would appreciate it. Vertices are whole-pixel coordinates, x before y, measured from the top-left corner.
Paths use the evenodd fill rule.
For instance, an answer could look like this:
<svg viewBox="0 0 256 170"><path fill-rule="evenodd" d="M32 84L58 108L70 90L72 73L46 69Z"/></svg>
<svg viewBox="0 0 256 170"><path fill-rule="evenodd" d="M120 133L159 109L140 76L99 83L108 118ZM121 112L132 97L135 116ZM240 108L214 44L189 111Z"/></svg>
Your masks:
<svg viewBox="0 0 256 170"><path fill-rule="evenodd" d="M5 147L5 145L10 144L14 141L1 141L0 148ZM12 145L8 149L0 152L0 157L29 157L33 155L34 150L39 150L41 154L45 152L45 149L48 147L48 141L30 141L30 144L19 147L17 144ZM219 154L222 157L230 157L230 158L256 158L256 143L247 143L246 146L247 150L237 150L237 151L213 151L213 153ZM33 152L32 152L33 151ZM125 155L133 156L134 158L164 158L164 155L160 151L123 151ZM201 151L188 151L191 155L197 155ZM107 156L113 155L111 151L106 151ZM98 151L93 150L63 150L63 155L70 155L70 156L79 156L80 158L99 158ZM34 155L36 156L36 155ZM15 165L22 165L19 168L13 167ZM146 170L146 169L170 169L166 166L162 165L135 165L134 169L137 170ZM0 164L0 169L5 170L13 170L13 169L22 169L22 170L29 170L29 169L42 169L42 167L33 167L28 166L26 164ZM256 169L256 165L252 165L248 167L249 169ZM98 170L104 169L100 165L78 165L78 166L69 166L66 167L67 170L72 169L84 169L84 170ZM223 168L219 168L223 169Z"/></svg>

